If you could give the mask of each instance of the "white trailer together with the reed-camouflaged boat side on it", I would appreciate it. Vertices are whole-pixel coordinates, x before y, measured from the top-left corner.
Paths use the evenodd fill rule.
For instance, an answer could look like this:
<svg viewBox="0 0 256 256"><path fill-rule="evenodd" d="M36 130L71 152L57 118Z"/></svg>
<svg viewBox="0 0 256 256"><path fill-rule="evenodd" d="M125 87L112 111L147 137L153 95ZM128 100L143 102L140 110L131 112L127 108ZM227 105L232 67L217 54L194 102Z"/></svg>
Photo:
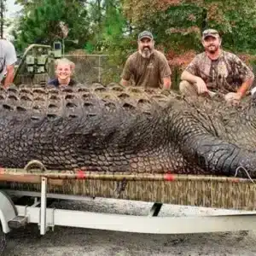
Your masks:
<svg viewBox="0 0 256 256"><path fill-rule="evenodd" d="M147 234L189 234L254 230L253 223L256 222L254 202L256 190L254 183L248 179L193 177L191 175L168 175L161 177L160 175L150 176L149 174L147 176L143 175L143 177L140 175L122 177L121 174L94 174L81 171L55 172L53 170L43 170L42 172L42 168L44 169L42 163L32 161L32 164L35 163L38 165L38 169L40 169L39 166L41 167L40 170L31 170L28 168L15 170L2 168L0 170L0 221L2 227L0 248L2 248L2 251L4 245L6 245L5 235L11 232L11 230L24 227L26 224L38 224L38 230L42 236L44 236L48 230L54 230L55 226ZM123 176L125 176L125 174L123 174ZM73 189L76 188L77 191L81 186L82 189L85 189L86 186L89 190L89 187L92 186L91 189L93 193L91 190L88 190L89 192L87 191L84 194L79 191L71 195L67 190L66 193L63 193L61 189L67 189L67 182L69 186L72 186ZM108 193L100 194L101 192L96 191L95 187L90 182L99 182L97 185L105 182L105 187L107 182L110 189L111 183L115 183L115 189L112 188L113 195L108 195ZM142 182L144 183L144 187ZM129 192L129 183L135 183L132 188L137 187L137 191L133 190L133 192L135 192L135 194L133 194L136 195L137 198L132 195L131 191ZM147 200L148 194L152 194L152 190L148 189L148 183L153 184L154 189L160 187L162 200L155 197L154 201L154 196L149 196ZM190 195L186 192L187 197L184 199L183 195L181 195L181 191L188 188L188 186L190 188ZM210 191L207 189L202 190L202 188L207 187L211 188ZM193 188L195 190L193 190ZM226 194L224 188L226 191L230 190L231 193ZM98 187L98 189L101 190L101 186ZM146 189L146 191L144 189ZM125 190L128 192L127 195L123 193ZM194 191L194 195L192 191ZM202 193L202 191L204 192ZM105 192L107 192L106 189ZM193 196L191 197L191 195ZM13 198L17 196L28 196L32 199L32 203L26 205L15 204ZM47 207L48 201L53 199L85 201L88 200L88 197L150 201L152 202L152 207L148 208L147 216L87 212ZM217 198L218 204L216 204ZM180 203L178 203L178 201ZM162 217L159 216L159 213L165 202L195 207L236 209L240 211L210 216ZM233 202L233 205L227 205L228 202Z"/></svg>

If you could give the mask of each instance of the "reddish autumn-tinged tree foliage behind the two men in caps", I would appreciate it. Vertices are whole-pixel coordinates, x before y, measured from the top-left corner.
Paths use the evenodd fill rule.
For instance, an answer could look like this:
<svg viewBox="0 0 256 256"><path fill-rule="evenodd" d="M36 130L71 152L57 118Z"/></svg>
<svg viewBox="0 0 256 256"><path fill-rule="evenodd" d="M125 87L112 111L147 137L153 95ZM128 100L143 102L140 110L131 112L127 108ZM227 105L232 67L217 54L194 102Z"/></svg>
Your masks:
<svg viewBox="0 0 256 256"><path fill-rule="evenodd" d="M224 47L253 51L256 3L247 0L124 0L125 17L141 30L152 30L159 44L176 50L201 49L201 32L223 34Z"/></svg>

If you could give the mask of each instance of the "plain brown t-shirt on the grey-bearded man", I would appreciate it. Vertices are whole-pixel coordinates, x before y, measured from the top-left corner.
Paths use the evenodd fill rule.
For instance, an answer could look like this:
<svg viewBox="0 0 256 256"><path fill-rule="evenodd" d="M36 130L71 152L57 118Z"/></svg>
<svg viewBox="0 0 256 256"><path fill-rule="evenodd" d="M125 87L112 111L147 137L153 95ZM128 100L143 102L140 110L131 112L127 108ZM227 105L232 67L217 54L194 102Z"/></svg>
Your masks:
<svg viewBox="0 0 256 256"><path fill-rule="evenodd" d="M159 88L163 84L162 79L171 76L166 56L154 49L153 54L148 58L137 51L130 55L125 63L122 79L133 79L136 86Z"/></svg>

